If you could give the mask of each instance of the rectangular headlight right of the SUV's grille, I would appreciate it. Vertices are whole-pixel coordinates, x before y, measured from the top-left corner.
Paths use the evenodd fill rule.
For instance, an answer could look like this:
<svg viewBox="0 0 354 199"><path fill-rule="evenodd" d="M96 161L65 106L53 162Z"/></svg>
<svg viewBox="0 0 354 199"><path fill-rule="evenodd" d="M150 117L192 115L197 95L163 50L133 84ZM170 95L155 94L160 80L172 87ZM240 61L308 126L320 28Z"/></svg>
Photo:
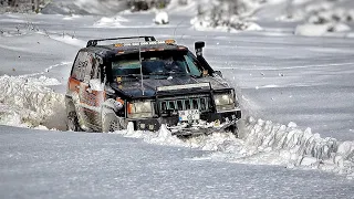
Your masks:
<svg viewBox="0 0 354 199"><path fill-rule="evenodd" d="M235 95L232 91L230 93L215 94L214 101L215 105L217 106L217 112L232 111L236 108Z"/></svg>

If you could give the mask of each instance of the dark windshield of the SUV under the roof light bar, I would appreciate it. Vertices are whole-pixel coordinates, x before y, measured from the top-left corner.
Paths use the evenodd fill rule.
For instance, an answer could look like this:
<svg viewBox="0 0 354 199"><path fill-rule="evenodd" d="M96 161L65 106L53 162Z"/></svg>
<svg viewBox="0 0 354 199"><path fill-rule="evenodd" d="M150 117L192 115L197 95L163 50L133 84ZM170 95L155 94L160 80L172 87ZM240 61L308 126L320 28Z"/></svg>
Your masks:
<svg viewBox="0 0 354 199"><path fill-rule="evenodd" d="M112 62L113 77L138 76L140 71L144 77L162 78L168 76L200 76L201 66L188 51L155 51L117 56Z"/></svg>

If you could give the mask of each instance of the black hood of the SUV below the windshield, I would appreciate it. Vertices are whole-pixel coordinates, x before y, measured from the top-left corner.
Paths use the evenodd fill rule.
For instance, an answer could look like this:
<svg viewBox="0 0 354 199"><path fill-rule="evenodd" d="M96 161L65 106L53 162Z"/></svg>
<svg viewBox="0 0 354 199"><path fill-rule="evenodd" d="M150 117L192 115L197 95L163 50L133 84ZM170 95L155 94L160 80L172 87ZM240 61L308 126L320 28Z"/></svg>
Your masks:
<svg viewBox="0 0 354 199"><path fill-rule="evenodd" d="M195 78L191 76L178 76L170 80L155 80L155 78L144 78L142 86L142 81L123 82L121 84L114 83L112 87L119 93L133 97L153 97L156 95L157 87L160 86L173 86L173 85L185 85L185 84L198 84L198 83L210 83L211 90L223 90L229 88L228 83L220 77L200 77ZM143 88L144 87L144 95Z"/></svg>

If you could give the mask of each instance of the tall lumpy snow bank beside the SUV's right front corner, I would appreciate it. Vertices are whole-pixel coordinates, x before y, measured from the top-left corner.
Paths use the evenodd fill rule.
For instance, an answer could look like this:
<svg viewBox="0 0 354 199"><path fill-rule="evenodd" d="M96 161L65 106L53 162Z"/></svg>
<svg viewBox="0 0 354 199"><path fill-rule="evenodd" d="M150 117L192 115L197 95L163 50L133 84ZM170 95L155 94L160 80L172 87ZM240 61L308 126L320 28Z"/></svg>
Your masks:
<svg viewBox="0 0 354 199"><path fill-rule="evenodd" d="M304 166L354 177L354 142L321 138L311 128L301 130L294 123L285 126L252 117L247 121L246 132L244 146L252 148L249 153L278 151L281 159L287 158L289 167Z"/></svg>

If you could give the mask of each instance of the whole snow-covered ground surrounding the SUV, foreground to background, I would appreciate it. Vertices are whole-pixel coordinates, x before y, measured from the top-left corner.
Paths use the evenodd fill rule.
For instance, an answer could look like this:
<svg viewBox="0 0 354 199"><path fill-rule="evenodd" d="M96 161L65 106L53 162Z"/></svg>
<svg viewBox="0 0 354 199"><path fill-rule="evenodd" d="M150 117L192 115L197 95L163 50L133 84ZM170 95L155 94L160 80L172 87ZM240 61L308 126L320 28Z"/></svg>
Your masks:
<svg viewBox="0 0 354 199"><path fill-rule="evenodd" d="M294 35L301 22L281 14L258 19L261 31L196 31L192 14L167 10L167 25L149 12L0 15L1 196L353 198L354 40ZM63 129L66 78L88 39L138 34L206 41L206 59L241 98L240 139L38 130Z"/></svg>

